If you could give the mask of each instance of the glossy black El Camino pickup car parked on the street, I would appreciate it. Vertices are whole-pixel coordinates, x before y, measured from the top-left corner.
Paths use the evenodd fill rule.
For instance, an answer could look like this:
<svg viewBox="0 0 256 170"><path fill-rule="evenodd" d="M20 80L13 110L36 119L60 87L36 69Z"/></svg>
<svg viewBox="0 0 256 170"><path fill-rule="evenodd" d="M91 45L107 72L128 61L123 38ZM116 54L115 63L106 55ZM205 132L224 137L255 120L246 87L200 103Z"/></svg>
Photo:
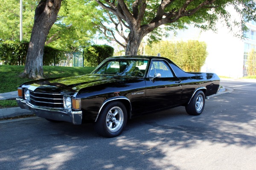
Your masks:
<svg viewBox="0 0 256 170"><path fill-rule="evenodd" d="M16 100L51 122L93 121L97 133L114 137L143 113L185 106L200 115L219 83L216 74L185 72L163 57L109 57L91 74L26 82Z"/></svg>

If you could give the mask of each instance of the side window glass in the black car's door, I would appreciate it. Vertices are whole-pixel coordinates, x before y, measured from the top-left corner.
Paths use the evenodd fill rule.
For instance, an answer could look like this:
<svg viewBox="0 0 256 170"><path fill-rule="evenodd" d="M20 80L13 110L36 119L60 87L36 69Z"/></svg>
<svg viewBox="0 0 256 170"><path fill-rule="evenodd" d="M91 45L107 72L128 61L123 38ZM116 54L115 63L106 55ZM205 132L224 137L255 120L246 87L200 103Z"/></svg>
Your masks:
<svg viewBox="0 0 256 170"><path fill-rule="evenodd" d="M153 61L151 62L148 77L154 77L158 73L161 74L161 77L174 77L169 66L166 65L164 61Z"/></svg>

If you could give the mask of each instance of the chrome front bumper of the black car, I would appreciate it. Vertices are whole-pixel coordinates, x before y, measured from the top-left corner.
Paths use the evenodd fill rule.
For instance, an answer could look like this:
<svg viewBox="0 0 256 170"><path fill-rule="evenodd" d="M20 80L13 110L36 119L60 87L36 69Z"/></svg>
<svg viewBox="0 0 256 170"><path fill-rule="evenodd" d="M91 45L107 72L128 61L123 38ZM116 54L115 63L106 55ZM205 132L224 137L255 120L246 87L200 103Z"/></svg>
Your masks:
<svg viewBox="0 0 256 170"><path fill-rule="evenodd" d="M74 125L80 125L82 123L82 111L70 111L64 108L47 108L35 106L20 98L16 98L16 101L20 108L30 110L38 117L71 122Z"/></svg>

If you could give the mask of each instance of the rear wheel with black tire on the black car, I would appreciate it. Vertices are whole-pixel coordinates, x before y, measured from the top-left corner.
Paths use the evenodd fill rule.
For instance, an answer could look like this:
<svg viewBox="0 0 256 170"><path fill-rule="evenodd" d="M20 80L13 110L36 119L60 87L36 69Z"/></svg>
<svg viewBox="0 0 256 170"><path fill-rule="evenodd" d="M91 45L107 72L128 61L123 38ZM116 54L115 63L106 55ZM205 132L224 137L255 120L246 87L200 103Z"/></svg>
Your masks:
<svg viewBox="0 0 256 170"><path fill-rule="evenodd" d="M197 91L188 105L186 112L190 115L198 116L204 111L205 96L203 91Z"/></svg>

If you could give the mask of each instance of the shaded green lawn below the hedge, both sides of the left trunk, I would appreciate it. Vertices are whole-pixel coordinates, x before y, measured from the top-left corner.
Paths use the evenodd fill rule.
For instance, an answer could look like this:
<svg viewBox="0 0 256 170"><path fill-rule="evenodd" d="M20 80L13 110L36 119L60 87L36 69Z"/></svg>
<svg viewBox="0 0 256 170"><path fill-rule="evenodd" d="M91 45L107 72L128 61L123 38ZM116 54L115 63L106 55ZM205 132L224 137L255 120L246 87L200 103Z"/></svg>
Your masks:
<svg viewBox="0 0 256 170"><path fill-rule="evenodd" d="M17 87L22 83L32 80L19 77L23 73L24 67L23 65L0 65L0 93L17 91ZM43 66L47 78L84 75L93 71L94 68Z"/></svg>

